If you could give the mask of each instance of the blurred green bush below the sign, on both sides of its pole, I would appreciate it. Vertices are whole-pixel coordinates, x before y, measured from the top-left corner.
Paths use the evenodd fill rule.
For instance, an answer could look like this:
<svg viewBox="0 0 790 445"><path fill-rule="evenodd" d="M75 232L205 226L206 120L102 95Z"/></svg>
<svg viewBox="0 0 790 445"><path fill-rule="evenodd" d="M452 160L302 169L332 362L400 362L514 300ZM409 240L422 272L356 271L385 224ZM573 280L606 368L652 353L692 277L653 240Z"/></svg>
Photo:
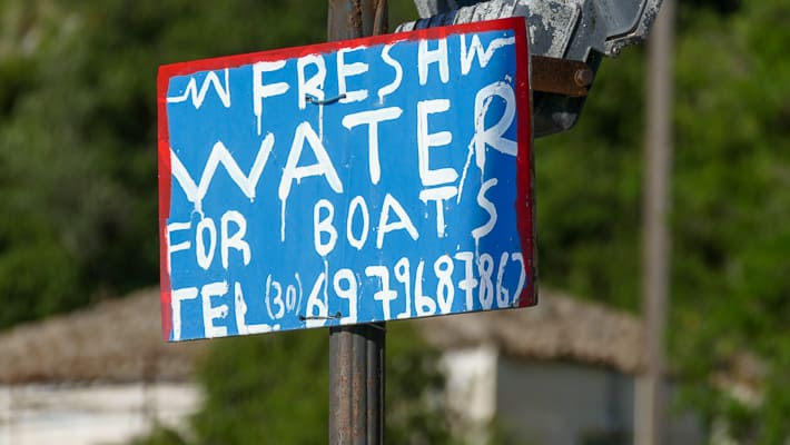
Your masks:
<svg viewBox="0 0 790 445"><path fill-rule="evenodd" d="M409 325L387 325L388 444L450 444L437 355ZM328 435L325 329L215 340L198 379L206 400L195 438L157 429L132 445L319 444Z"/></svg>

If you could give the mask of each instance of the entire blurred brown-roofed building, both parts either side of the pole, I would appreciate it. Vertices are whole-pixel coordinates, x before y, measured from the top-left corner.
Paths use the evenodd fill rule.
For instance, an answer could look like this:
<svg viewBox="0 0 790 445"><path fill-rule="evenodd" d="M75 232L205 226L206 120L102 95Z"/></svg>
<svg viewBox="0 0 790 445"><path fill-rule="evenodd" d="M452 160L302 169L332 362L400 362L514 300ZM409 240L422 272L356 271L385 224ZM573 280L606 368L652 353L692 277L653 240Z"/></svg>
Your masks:
<svg viewBox="0 0 790 445"><path fill-rule="evenodd" d="M630 444L642 325L549 290L526 310L414 320L443 349L447 406L470 443L496 417L529 444ZM0 334L0 445L118 443L156 423L186 428L206 342L166 344L156 289ZM670 443L701 444L691 415ZM517 442L517 443L522 443Z"/></svg>

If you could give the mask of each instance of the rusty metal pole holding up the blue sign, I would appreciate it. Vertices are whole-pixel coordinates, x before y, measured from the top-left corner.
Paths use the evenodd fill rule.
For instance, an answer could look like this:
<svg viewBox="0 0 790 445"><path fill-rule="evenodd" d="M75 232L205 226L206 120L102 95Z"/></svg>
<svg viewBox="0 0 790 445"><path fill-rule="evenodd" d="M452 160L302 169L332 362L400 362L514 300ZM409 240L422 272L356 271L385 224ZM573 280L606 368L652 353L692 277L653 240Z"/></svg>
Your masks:
<svg viewBox="0 0 790 445"><path fill-rule="evenodd" d="M329 0L328 40L387 31L386 0ZM329 444L384 443L384 323L329 329Z"/></svg>

